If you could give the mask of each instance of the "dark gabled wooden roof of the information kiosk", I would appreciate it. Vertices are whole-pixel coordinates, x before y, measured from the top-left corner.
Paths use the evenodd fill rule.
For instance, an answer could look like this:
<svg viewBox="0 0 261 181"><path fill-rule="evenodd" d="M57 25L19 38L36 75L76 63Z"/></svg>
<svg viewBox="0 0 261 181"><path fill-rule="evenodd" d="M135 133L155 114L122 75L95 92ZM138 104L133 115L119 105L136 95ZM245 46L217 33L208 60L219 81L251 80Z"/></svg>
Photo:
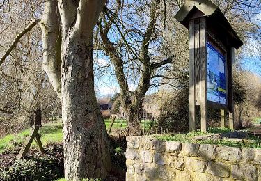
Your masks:
<svg viewBox="0 0 261 181"><path fill-rule="evenodd" d="M189 20L206 17L207 27L217 38L226 42L228 47L239 48L243 45L237 33L218 6L207 0L188 0L175 15L175 19L189 29ZM216 31L219 30L219 31Z"/></svg>

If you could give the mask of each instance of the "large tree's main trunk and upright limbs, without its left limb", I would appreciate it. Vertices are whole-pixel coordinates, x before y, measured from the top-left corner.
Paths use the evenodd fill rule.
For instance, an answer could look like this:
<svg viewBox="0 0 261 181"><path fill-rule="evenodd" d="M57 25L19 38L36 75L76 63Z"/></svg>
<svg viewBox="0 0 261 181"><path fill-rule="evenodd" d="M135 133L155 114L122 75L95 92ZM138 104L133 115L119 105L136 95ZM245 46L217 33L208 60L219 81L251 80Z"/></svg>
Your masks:
<svg viewBox="0 0 261 181"><path fill-rule="evenodd" d="M93 28L104 3L59 1L66 180L106 178L111 168L106 127L97 104L93 75Z"/></svg>

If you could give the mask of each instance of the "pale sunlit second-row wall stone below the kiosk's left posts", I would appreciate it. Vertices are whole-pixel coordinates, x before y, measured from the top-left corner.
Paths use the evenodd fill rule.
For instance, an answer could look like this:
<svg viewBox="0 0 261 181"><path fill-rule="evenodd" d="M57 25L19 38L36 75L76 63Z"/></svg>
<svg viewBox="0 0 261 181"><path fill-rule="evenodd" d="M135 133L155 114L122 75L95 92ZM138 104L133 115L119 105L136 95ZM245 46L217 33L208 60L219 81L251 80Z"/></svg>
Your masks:
<svg viewBox="0 0 261 181"><path fill-rule="evenodd" d="M205 163L201 160L191 159L189 157L186 157L185 169L187 171L195 171L195 172L203 173L205 171Z"/></svg>

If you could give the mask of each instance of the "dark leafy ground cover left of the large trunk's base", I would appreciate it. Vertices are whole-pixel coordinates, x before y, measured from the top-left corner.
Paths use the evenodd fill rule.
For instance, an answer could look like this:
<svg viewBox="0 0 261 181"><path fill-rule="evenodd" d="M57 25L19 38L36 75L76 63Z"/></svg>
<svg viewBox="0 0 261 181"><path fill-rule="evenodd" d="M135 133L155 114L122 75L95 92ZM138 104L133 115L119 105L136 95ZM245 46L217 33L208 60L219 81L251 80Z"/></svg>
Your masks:
<svg viewBox="0 0 261 181"><path fill-rule="evenodd" d="M54 180L63 177L63 147L52 145L48 154L25 159L0 157L0 180Z"/></svg>

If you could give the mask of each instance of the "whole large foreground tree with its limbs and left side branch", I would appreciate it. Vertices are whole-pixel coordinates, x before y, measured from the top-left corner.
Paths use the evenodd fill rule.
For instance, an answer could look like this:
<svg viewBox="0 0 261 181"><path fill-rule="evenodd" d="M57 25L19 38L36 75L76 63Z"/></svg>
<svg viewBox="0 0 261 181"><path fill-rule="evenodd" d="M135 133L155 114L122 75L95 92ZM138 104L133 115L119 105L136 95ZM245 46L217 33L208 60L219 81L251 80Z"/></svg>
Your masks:
<svg viewBox="0 0 261 181"><path fill-rule="evenodd" d="M107 134L94 91L93 29L105 1L47 0L3 54L35 24L42 29L43 68L62 101L65 178L105 178L111 161ZM31 26L32 25L32 26Z"/></svg>

